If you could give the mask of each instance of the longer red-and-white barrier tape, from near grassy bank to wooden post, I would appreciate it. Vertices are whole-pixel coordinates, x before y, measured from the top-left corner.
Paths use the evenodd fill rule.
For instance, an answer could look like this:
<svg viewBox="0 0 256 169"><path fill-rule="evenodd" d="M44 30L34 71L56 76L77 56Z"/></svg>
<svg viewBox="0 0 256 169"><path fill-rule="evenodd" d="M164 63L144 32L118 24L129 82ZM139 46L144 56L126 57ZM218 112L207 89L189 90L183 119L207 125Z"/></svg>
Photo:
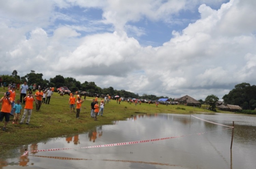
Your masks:
<svg viewBox="0 0 256 169"><path fill-rule="evenodd" d="M226 129L230 129L230 128L232 128L232 127L229 127L229 128L226 128ZM226 130L226 129L221 129L221 130ZM42 152L42 151L57 151L57 150L70 150L70 149L83 149L83 148L97 148L97 147L112 147L112 146L132 145L132 144L139 144L139 143L155 142L155 141L166 140L166 139L171 139L171 138L180 138L180 137L191 136L191 135L201 135L201 134L205 134L205 133L209 133L209 132L214 132L214 131L219 131L219 130L205 131L205 132L201 132L201 133L187 134L187 135L181 135L181 136L173 136L173 137L165 137L165 138L140 140L140 141L134 141L134 142L104 144L104 145L88 146L88 147L80 147L80 148L55 148L55 149L34 150L34 151L31 151L31 153L33 153L33 152ZM25 156L25 155L28 155L28 151L24 152L24 154L22 156Z"/></svg>

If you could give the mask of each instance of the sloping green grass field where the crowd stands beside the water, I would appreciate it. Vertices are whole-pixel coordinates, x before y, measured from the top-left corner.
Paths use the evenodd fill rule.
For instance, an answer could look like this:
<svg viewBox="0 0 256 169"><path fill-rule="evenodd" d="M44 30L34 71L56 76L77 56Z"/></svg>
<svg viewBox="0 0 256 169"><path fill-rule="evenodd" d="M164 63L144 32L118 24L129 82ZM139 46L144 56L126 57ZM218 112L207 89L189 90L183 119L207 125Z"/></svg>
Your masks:
<svg viewBox="0 0 256 169"><path fill-rule="evenodd" d="M6 90L0 88L0 97L4 95ZM20 94L16 92L16 100L19 99ZM200 113L212 111L194 108L184 105L158 105L155 104L130 104L128 102L121 102L117 104L115 100L111 100L108 104L105 104L103 116L98 116L98 121L90 117L90 103L94 98L86 97L86 100L82 104L80 118L77 119L74 112L70 112L68 105L69 96L60 96L58 93L54 93L51 97L49 105L42 104L38 112L34 109L32 111L29 125L12 124L13 116L11 116L10 122L6 127L6 131L0 131L0 151L1 155L8 149L15 148L20 145L37 143L49 138L59 136L69 136L86 132L98 125L112 124L115 120L125 120L126 118L133 116L137 113ZM99 99L100 101L100 99ZM0 106L1 103L0 103ZM20 118L23 115L23 110ZM26 119L25 119L26 120ZM26 122L26 121L24 121ZM3 122L0 122L0 128L2 129Z"/></svg>

